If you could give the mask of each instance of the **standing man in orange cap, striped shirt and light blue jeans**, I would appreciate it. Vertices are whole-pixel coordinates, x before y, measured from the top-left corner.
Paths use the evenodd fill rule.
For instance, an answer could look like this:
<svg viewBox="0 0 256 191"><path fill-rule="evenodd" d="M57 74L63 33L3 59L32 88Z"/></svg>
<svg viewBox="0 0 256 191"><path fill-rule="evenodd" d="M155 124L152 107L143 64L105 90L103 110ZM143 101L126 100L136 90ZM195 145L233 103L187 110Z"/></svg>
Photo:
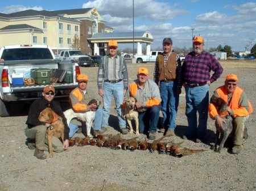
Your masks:
<svg viewBox="0 0 256 191"><path fill-rule="evenodd" d="M115 100L118 124L122 134L127 134L126 121L122 117L123 96L128 87L128 72L125 59L117 55L118 44L116 40L108 42L109 54L102 57L98 67L98 94L103 98L102 126L109 126L109 111L112 96Z"/></svg>

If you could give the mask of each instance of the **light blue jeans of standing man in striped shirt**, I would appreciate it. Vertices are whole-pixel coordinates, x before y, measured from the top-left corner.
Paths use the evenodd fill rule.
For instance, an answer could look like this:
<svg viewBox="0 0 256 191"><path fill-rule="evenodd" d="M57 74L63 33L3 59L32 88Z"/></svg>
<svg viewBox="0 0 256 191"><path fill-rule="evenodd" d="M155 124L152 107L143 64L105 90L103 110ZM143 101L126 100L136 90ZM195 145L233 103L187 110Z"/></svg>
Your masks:
<svg viewBox="0 0 256 191"><path fill-rule="evenodd" d="M118 83L104 82L103 85L103 117L102 126L109 125L109 111L111 108L112 95L115 100L115 109L117 111L119 128L126 127L126 121L122 118L122 103L123 103L123 81Z"/></svg>

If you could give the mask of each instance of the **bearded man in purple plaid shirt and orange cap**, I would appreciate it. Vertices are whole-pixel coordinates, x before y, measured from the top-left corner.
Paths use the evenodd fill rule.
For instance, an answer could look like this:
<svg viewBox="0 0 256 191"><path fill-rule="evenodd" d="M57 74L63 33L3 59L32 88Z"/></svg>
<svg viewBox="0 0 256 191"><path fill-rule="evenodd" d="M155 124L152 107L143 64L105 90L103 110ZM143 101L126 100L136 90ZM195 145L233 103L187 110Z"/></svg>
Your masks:
<svg viewBox="0 0 256 191"><path fill-rule="evenodd" d="M214 72L211 77L210 71ZM195 36L193 52L187 54L181 66L181 81L186 93L185 114L188 120L187 134L183 135L183 139L195 139L195 142L206 141L209 86L220 77L222 71L216 58L204 50L204 38Z"/></svg>

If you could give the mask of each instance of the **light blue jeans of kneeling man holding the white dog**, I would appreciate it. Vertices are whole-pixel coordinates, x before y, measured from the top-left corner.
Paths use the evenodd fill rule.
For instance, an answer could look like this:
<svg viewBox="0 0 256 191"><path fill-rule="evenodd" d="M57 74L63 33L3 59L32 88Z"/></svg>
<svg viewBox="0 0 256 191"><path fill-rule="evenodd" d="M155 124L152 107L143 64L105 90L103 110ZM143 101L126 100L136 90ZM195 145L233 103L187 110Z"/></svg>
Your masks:
<svg viewBox="0 0 256 191"><path fill-rule="evenodd" d="M93 130L100 130L101 129L101 122L102 122L102 116L103 116L103 111L101 108L97 108L95 112L95 118L93 121ZM69 123L69 137L73 137L73 135L76 133L81 126L72 124L72 122ZM86 126L84 123L82 123L82 133L85 135L86 134Z"/></svg>

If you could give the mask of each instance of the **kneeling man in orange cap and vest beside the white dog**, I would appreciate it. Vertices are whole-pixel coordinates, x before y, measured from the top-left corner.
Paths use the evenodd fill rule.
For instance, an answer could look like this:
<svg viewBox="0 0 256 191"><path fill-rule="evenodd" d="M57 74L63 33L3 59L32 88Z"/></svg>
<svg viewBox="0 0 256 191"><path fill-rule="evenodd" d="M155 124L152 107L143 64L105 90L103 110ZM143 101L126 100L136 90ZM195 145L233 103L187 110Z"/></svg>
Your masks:
<svg viewBox="0 0 256 191"><path fill-rule="evenodd" d="M95 112L95 120L93 121L93 135L96 136L98 134L104 133L106 131L105 128L101 128L102 122L102 109L99 108L96 104L87 105L87 103L95 99L96 95L93 95L92 92L86 89L88 83L88 75L80 74L77 77L79 86L72 90L69 94L69 99L71 101L71 105L73 111L77 113L84 113L86 111L96 111ZM79 130L80 125L82 128L82 134L86 136L86 127L85 124L79 124L76 120L72 120L69 124L70 132L69 137L73 137L73 135ZM88 135L87 135L88 136Z"/></svg>

